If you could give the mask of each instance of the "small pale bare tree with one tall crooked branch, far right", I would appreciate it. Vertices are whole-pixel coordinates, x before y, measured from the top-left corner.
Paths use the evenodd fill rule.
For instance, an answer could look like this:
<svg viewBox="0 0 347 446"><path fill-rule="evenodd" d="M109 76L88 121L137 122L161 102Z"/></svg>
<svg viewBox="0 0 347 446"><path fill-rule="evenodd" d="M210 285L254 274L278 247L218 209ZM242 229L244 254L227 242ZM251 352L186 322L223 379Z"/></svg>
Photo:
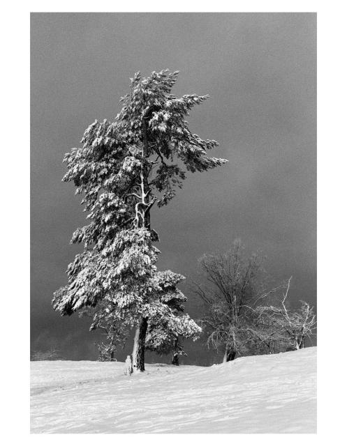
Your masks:
<svg viewBox="0 0 347 446"><path fill-rule="evenodd" d="M304 348L305 339L310 338L316 329L316 314L313 307L303 300L300 301L299 309L288 309L286 302L291 279L292 277L288 279L278 304L258 307L258 314L261 318L267 319L267 325L274 329L281 344L287 349L299 350Z"/></svg>

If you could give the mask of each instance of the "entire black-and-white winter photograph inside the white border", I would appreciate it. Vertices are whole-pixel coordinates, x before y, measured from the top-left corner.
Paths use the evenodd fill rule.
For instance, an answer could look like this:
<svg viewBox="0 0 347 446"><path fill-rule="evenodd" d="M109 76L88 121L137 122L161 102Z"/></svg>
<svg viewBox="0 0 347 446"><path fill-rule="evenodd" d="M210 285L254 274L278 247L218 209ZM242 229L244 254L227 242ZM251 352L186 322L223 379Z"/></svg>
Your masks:
<svg viewBox="0 0 347 446"><path fill-rule="evenodd" d="M27 20L30 433L317 433L316 12Z"/></svg>

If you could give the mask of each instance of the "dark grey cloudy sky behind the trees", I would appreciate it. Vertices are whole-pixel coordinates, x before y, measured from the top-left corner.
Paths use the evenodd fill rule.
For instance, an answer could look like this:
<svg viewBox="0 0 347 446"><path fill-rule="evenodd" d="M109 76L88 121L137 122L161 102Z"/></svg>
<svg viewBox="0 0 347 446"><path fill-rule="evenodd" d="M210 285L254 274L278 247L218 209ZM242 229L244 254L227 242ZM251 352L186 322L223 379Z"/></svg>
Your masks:
<svg viewBox="0 0 347 446"><path fill-rule="evenodd" d="M31 348L95 359L88 321L62 318L52 293L66 283L84 224L80 197L61 183L64 153L95 119L112 119L140 71L179 70L175 95L209 94L189 123L230 162L189 174L152 213L158 268L194 277L205 252L241 238L267 255L290 299L316 302L316 15L313 13L34 13L31 15ZM191 316L199 313L191 301ZM185 363L216 355L188 343ZM131 351L117 354L124 360ZM149 361L161 361L149 355Z"/></svg>

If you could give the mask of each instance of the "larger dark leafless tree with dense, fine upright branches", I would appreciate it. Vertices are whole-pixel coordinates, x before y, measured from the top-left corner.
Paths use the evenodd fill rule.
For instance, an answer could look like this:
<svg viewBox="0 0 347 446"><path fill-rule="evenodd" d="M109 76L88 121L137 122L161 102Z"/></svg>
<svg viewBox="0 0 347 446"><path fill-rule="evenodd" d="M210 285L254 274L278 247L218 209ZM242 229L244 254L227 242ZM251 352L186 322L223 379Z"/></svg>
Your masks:
<svg viewBox="0 0 347 446"><path fill-rule="evenodd" d="M270 334L257 334L260 315L255 308L278 287L268 286L263 261L258 253L246 259L240 240L235 240L226 254L205 254L200 259L205 284L195 283L195 292L204 302L201 322L208 334L207 344L217 350L223 348L223 362L251 352L257 344L271 351Z"/></svg>

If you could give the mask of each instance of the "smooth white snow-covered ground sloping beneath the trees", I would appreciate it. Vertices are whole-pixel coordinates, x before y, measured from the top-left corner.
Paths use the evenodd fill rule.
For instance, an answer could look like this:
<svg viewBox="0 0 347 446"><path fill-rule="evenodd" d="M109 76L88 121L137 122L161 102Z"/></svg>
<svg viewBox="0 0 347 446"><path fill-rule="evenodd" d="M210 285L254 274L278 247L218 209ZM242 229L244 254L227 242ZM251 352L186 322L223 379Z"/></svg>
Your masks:
<svg viewBox="0 0 347 446"><path fill-rule="evenodd" d="M212 367L31 362L32 433L315 433L316 348Z"/></svg>

